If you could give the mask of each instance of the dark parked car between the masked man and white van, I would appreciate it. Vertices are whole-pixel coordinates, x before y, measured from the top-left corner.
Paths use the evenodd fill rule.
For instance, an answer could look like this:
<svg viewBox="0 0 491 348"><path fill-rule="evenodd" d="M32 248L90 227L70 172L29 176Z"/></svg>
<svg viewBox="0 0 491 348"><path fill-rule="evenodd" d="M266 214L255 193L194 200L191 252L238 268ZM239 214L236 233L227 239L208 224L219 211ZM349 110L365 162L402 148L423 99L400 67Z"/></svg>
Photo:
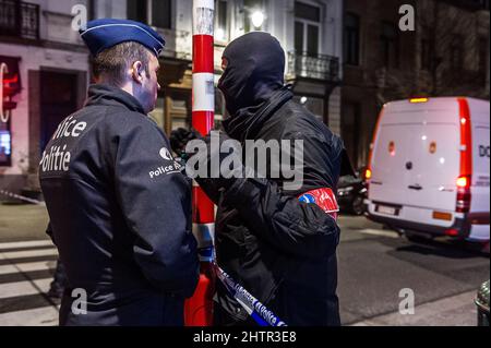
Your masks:
<svg viewBox="0 0 491 348"><path fill-rule="evenodd" d="M337 202L342 212L349 212L355 215L362 215L366 212L364 200L367 199L367 184L363 178L345 176L339 178L337 184Z"/></svg>

